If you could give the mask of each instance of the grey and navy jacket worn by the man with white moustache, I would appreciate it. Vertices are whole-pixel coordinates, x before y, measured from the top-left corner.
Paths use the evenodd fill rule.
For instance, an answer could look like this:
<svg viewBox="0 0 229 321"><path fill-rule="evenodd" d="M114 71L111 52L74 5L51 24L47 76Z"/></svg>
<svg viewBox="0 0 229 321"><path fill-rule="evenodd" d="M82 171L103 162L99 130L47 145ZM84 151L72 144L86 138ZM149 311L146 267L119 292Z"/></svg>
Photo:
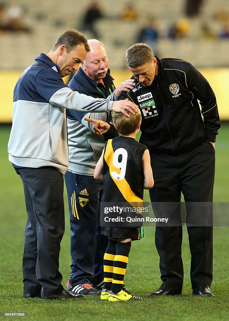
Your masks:
<svg viewBox="0 0 229 321"><path fill-rule="evenodd" d="M78 72L69 82L69 87L94 98L107 98L109 100L119 100L115 94L114 78L109 74L109 69L103 79L105 87L100 82L95 82L89 78L80 67ZM83 175L93 176L96 163L99 160L105 146L105 135L96 135L93 132L93 124L85 121L85 118L94 118L103 121L109 121L108 113L79 113L74 110L67 110L68 124L68 144L69 144L69 168L68 170ZM112 137L115 137L114 126L111 131ZM110 134L111 134L111 131Z"/></svg>

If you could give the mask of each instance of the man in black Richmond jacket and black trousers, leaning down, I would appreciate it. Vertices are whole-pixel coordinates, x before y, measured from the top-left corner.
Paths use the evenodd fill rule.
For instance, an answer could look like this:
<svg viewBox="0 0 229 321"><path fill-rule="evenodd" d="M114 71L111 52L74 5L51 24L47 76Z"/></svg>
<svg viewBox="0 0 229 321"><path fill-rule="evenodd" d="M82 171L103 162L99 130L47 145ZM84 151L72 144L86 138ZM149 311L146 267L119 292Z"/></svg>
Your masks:
<svg viewBox="0 0 229 321"><path fill-rule="evenodd" d="M180 221L182 192L187 218L194 224L187 225L192 294L214 296L210 291L213 228L193 219L190 202L213 200L215 136L220 127L215 94L203 75L185 60L159 59L142 43L131 46L125 57L135 87L122 98L128 97L142 112L139 142L150 150L154 187L149 193L154 213L165 217L166 202L177 202L173 214ZM212 216L212 209L210 212ZM204 210L200 214L204 215ZM148 294L150 297L182 292L182 222L178 225L156 226L162 284L158 291Z"/></svg>

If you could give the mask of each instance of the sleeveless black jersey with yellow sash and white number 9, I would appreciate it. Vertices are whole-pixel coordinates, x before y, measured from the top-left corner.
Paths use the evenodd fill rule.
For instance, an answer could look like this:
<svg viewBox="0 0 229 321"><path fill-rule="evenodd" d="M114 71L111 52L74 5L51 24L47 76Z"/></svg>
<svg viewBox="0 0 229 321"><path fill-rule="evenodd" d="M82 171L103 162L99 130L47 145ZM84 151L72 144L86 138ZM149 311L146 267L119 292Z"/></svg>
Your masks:
<svg viewBox="0 0 229 321"><path fill-rule="evenodd" d="M148 149L132 137L109 139L103 157L105 202L143 201L142 156Z"/></svg>

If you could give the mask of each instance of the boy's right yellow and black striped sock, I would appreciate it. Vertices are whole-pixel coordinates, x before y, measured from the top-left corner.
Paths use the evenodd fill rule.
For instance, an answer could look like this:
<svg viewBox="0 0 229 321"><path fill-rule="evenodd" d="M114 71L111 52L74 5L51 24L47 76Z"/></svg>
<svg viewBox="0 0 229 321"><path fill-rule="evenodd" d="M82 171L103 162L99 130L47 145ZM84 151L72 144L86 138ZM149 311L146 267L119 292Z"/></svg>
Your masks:
<svg viewBox="0 0 229 321"><path fill-rule="evenodd" d="M123 288L124 276L126 273L126 267L128 262L128 257L130 253L131 242L116 244L116 255L114 259L114 273L111 291L113 293L118 293Z"/></svg>

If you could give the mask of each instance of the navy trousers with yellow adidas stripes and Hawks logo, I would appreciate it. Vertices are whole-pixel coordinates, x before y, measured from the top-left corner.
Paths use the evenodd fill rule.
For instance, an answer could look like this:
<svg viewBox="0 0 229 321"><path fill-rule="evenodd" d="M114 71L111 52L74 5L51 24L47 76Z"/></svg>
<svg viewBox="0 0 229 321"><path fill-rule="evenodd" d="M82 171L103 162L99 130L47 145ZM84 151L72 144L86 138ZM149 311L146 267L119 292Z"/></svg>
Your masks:
<svg viewBox="0 0 229 321"><path fill-rule="evenodd" d="M93 176L67 171L65 184L71 226L71 285L103 282L108 237L101 234L99 202L103 183Z"/></svg>

